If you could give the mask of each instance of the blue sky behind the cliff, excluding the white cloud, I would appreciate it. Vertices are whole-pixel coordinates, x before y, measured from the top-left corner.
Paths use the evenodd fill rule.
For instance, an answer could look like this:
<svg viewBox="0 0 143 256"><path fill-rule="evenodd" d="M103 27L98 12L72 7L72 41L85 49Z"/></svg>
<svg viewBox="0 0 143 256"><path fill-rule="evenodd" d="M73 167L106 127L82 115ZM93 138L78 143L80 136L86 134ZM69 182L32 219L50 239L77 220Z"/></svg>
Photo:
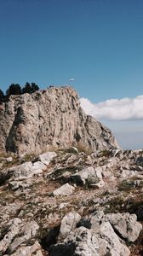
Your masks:
<svg viewBox="0 0 143 256"><path fill-rule="evenodd" d="M0 0L0 88L26 81L46 88L72 76L93 103L140 96L142 28L142 0ZM138 119L103 122L115 133L142 128Z"/></svg>

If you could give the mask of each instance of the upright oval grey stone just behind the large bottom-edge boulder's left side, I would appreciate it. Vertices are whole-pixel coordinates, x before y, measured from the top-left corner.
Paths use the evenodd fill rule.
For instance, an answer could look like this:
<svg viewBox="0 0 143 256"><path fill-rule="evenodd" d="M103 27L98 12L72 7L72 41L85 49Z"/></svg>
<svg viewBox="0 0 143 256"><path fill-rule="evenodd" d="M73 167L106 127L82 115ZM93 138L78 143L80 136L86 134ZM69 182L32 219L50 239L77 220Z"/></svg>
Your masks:
<svg viewBox="0 0 143 256"><path fill-rule="evenodd" d="M59 239L64 239L66 236L76 228L81 216L77 212L69 212L61 220Z"/></svg>

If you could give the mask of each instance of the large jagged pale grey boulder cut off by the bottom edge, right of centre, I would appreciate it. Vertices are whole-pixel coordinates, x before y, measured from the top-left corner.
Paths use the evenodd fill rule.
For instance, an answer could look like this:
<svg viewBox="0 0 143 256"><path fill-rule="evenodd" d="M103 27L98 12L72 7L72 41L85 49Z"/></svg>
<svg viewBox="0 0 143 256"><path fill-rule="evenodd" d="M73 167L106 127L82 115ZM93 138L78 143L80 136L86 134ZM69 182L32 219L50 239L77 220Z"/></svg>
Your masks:
<svg viewBox="0 0 143 256"><path fill-rule="evenodd" d="M51 256L129 256L129 248L123 245L108 222L98 229L80 227L72 231L66 239L54 245Z"/></svg>

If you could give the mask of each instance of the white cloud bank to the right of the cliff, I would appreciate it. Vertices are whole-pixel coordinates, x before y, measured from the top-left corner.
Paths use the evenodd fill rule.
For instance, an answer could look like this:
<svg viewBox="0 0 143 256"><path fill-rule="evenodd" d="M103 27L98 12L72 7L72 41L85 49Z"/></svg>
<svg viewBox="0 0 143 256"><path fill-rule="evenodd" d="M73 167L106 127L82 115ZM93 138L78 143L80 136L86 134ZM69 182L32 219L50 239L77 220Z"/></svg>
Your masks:
<svg viewBox="0 0 143 256"><path fill-rule="evenodd" d="M80 102L85 113L96 119L143 119L143 95L135 98L110 99L96 104L81 98Z"/></svg>

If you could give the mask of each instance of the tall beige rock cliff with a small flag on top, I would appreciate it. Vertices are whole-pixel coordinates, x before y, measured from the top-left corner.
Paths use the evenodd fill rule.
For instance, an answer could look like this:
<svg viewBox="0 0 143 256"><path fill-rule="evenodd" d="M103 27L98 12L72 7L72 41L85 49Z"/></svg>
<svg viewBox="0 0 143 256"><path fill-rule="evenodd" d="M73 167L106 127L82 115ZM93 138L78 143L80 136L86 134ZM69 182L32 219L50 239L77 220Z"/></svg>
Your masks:
<svg viewBox="0 0 143 256"><path fill-rule="evenodd" d="M40 154L75 146L85 151L117 148L112 132L87 116L71 87L10 96L0 112L0 152Z"/></svg>

